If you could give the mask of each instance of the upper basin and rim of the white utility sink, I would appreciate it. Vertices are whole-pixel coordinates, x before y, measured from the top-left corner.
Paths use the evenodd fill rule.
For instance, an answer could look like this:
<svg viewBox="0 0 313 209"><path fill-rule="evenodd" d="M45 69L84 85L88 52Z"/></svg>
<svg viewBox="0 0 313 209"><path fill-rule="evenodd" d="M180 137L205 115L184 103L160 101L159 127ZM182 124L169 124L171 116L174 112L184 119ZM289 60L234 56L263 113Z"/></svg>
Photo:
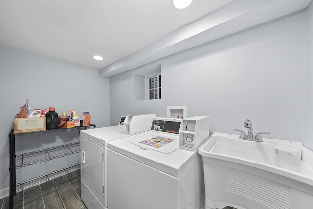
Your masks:
<svg viewBox="0 0 313 209"><path fill-rule="evenodd" d="M286 147L293 152L278 153L282 150L277 149L277 147L281 149ZM294 174L294 178L313 185L313 156L311 151L299 142L275 139L263 139L263 142L254 142L238 139L237 135L215 134L210 138L207 146L199 150L199 153L202 156L249 164L286 176ZM270 168L281 170L281 172ZM284 174L284 172L286 173ZM304 178L301 180L300 176Z"/></svg>

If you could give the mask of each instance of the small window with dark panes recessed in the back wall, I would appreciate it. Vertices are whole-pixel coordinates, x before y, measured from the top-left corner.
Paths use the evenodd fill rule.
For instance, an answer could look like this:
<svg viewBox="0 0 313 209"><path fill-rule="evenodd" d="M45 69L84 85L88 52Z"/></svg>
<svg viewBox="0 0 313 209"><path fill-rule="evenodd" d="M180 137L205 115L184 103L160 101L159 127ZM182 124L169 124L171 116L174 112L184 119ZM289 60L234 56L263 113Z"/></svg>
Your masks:
<svg viewBox="0 0 313 209"><path fill-rule="evenodd" d="M147 99L161 98L161 74L147 77Z"/></svg>

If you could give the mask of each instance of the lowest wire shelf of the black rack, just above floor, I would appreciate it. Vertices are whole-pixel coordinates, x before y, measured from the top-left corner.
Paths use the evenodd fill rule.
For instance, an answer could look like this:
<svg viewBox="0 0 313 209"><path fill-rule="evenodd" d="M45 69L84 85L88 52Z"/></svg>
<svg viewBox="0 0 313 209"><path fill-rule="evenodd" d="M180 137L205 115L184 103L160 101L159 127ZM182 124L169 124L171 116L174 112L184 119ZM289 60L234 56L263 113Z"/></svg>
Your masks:
<svg viewBox="0 0 313 209"><path fill-rule="evenodd" d="M16 185L14 202L23 201L79 177L80 163L21 182ZM39 186L39 189L36 186Z"/></svg>

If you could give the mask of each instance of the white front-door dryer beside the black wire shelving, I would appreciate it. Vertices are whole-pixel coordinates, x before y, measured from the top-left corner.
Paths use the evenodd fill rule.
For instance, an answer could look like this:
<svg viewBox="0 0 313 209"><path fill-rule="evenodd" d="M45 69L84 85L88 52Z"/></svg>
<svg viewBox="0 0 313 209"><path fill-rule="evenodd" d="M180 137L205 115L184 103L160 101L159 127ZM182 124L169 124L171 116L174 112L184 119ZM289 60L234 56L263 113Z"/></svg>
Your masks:
<svg viewBox="0 0 313 209"><path fill-rule="evenodd" d="M81 199L88 209L107 209L107 143L148 131L154 114L122 116L119 125L82 130ZM148 125L147 125L148 124ZM137 131L135 133L135 131Z"/></svg>

